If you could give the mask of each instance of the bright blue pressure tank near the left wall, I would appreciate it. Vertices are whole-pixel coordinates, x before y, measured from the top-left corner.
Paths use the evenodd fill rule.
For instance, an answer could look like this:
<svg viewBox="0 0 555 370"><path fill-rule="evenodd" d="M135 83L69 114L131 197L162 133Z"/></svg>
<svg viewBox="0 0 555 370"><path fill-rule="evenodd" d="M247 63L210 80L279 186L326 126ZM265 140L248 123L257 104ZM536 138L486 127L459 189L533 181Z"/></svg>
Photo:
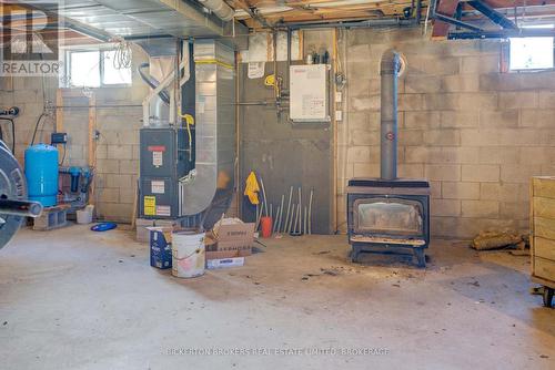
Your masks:
<svg viewBox="0 0 555 370"><path fill-rule="evenodd" d="M26 151L26 178L29 201L44 207L56 206L58 196L58 150L37 144Z"/></svg>

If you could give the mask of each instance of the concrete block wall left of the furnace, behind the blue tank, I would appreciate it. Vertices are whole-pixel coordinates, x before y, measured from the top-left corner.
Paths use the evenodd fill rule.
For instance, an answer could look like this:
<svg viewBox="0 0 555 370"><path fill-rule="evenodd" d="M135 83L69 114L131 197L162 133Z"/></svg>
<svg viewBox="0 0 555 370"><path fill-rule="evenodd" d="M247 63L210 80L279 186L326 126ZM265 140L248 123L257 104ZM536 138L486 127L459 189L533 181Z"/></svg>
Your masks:
<svg viewBox="0 0 555 370"><path fill-rule="evenodd" d="M142 126L143 97L149 88L135 71L135 66L148 60L140 48L133 48L133 80L128 88L93 89L97 96L97 130L100 138L97 146L95 192L93 203L97 216L115 222L131 222L135 184L139 174L139 129ZM23 164L23 152L31 142L32 131L42 112L44 100L56 103L58 79L0 78L0 105L17 105L21 115L16 119L16 156ZM44 91L44 93L43 93ZM87 130L89 110L85 99L67 99L63 112L64 131L69 133L64 165L87 164ZM73 107L71 107L73 105ZM114 107L105 107L111 105ZM2 124L6 136L8 125ZM37 142L50 142L56 115L49 115L39 126ZM10 141L9 138L7 140ZM10 144L10 143L9 143Z"/></svg>

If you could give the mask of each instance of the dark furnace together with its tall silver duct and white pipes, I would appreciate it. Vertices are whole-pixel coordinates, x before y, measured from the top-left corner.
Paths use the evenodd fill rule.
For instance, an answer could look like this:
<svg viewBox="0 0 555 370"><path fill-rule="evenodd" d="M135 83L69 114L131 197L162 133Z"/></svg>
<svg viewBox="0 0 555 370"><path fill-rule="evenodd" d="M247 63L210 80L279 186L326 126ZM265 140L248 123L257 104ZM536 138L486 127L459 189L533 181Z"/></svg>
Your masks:
<svg viewBox="0 0 555 370"><path fill-rule="evenodd" d="M162 101L159 94L174 81L174 74L163 80L153 75L159 84L147 79L155 89L143 101L140 214L186 218L190 226L210 228L226 212L233 195L235 54L214 39L194 40L186 47L189 79L181 85L178 123L160 122L151 105Z"/></svg>

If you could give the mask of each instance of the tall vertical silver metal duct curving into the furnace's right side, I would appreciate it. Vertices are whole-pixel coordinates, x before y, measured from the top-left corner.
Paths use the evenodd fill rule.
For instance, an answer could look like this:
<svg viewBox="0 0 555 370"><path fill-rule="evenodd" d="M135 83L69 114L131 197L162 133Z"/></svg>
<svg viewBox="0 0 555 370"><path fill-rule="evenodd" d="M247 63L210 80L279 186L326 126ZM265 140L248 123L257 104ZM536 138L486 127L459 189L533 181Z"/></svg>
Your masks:
<svg viewBox="0 0 555 370"><path fill-rule="evenodd" d="M183 215L218 217L233 193L235 161L235 56L215 40L194 42L196 144L194 174L180 183Z"/></svg>

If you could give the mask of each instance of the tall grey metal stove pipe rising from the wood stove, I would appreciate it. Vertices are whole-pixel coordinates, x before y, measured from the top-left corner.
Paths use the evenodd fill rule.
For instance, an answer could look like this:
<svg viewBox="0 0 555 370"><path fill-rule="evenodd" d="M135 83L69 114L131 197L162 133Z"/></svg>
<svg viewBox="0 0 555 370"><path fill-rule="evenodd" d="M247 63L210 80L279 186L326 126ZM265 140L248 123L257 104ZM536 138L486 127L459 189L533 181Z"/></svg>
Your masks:
<svg viewBox="0 0 555 370"><path fill-rule="evenodd" d="M387 50L382 55L380 74L382 75L381 111L381 177L397 178L397 80L401 55L395 50Z"/></svg>

